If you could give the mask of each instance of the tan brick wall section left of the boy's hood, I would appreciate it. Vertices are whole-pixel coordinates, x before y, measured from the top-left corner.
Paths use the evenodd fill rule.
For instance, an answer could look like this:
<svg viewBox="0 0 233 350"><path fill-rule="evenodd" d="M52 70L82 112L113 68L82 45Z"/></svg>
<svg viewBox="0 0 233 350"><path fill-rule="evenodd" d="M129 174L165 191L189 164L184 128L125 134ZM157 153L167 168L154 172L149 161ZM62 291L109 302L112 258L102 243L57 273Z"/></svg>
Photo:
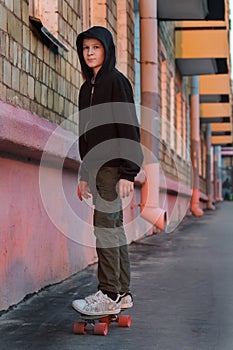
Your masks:
<svg viewBox="0 0 233 350"><path fill-rule="evenodd" d="M28 1L0 2L0 98L57 124L77 111L79 1L58 1L58 13L56 34L69 49L59 55L31 30Z"/></svg>

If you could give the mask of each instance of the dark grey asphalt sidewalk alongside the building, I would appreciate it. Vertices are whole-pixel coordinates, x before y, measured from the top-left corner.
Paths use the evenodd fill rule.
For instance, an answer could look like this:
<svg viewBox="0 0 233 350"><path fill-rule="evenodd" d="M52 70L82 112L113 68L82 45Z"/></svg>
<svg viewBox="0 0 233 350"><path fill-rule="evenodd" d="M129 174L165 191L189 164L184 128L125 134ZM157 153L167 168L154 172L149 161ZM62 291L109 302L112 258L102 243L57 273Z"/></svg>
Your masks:
<svg viewBox="0 0 233 350"><path fill-rule="evenodd" d="M96 265L0 317L1 350L232 350L233 202L175 232L130 246L135 306L129 329L75 335L73 299L95 291Z"/></svg>

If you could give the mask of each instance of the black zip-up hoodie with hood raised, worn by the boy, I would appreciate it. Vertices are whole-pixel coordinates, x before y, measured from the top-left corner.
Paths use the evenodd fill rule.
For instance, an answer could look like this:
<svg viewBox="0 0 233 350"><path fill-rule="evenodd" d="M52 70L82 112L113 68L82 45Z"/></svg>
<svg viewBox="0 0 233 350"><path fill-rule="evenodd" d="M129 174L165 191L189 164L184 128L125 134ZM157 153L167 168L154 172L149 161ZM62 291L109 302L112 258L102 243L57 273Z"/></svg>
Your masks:
<svg viewBox="0 0 233 350"><path fill-rule="evenodd" d="M83 57L83 39L98 39L105 59L92 83L93 70ZM85 76L79 93L79 152L81 180L101 166L119 168L119 178L134 181L143 155L133 91L129 80L115 68L115 45L109 30L95 26L77 37L77 51Z"/></svg>

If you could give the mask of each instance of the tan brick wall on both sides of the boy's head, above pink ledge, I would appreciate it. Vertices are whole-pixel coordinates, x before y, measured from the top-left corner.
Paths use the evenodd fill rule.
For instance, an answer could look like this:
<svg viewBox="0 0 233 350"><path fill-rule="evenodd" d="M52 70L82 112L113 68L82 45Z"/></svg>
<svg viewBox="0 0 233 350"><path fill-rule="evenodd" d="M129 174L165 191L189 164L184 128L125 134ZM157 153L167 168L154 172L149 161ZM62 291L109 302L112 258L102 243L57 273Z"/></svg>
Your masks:
<svg viewBox="0 0 233 350"><path fill-rule="evenodd" d="M56 54L34 34L29 23L29 2L0 0L0 99L57 124L66 118L71 123L75 122L82 82L76 36L83 30L83 3L81 0L55 0L55 13L54 3L51 3L51 10L46 8L47 11L44 11L47 2L39 2L41 8L34 16L39 16L42 23L69 49L68 53ZM117 18L122 3L125 13L123 23ZM121 48L117 51L117 64L134 83L133 0L90 4L90 25L109 28L117 46L124 42L124 52ZM122 24L124 36L119 32Z"/></svg>

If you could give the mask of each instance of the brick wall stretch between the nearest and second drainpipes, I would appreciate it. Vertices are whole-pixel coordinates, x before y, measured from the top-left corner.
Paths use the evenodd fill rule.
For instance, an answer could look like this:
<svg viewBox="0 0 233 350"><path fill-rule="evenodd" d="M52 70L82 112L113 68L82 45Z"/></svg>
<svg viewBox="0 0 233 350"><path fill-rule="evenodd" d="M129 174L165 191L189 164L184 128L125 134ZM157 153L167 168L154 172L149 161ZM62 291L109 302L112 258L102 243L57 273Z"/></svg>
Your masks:
<svg viewBox="0 0 233 350"><path fill-rule="evenodd" d="M189 104L188 99L188 80L183 78L182 80L178 76L175 67L175 53L174 53L174 27L172 22L160 22L159 23L159 50L158 50L158 59L159 59L159 112L160 112L160 125L162 124L162 118L166 120L166 132L165 140L162 140L160 143L160 160L162 168L165 174L173 179L179 180L184 184L187 184L187 180L190 180L190 142L189 142L189 130L186 129L185 132L182 130L182 142L180 144L180 154L178 155L178 140L179 137L175 136L175 144L172 147L171 151L171 139L172 139L172 130L177 128L177 110L176 110L176 89L178 88L177 82L179 82L179 89L182 97L182 101L186 101ZM163 88L167 90L166 93L166 113L162 116L162 92L161 92L161 79L162 79L162 60L166 61L166 77L163 77ZM174 105L171 106L171 91L170 91L170 82L171 78L174 78ZM174 110L174 121L171 120L171 109ZM180 106L182 108L182 106ZM164 114L164 112L163 112ZM180 127L183 128L183 125L186 126L189 124L187 120L187 114L180 111L182 120L180 120ZM178 174L179 173L179 174Z"/></svg>

